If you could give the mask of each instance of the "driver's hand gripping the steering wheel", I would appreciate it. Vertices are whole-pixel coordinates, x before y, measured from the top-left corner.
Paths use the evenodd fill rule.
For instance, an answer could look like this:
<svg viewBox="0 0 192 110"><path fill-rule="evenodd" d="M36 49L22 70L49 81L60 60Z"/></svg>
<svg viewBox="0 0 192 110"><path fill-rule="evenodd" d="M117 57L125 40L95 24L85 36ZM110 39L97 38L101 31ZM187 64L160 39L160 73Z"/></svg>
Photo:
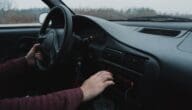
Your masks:
<svg viewBox="0 0 192 110"><path fill-rule="evenodd" d="M30 49L30 51L25 56L27 63L29 65L35 64L35 59L42 60L42 54L41 52L37 51L37 48L40 46L40 44L34 44L33 47Z"/></svg>

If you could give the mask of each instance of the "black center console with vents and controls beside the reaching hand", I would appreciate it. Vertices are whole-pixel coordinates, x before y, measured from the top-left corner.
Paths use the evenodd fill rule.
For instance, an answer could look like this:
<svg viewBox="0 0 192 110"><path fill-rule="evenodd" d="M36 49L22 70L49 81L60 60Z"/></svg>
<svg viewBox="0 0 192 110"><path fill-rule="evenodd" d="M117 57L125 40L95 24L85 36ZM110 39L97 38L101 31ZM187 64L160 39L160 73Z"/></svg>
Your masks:
<svg viewBox="0 0 192 110"><path fill-rule="evenodd" d="M89 45L81 67L83 82L91 74L108 70L113 74L115 85L108 87L82 110L143 110L152 109L158 73L158 62L147 53L130 48L113 39L105 44ZM79 63L79 64L81 64Z"/></svg>

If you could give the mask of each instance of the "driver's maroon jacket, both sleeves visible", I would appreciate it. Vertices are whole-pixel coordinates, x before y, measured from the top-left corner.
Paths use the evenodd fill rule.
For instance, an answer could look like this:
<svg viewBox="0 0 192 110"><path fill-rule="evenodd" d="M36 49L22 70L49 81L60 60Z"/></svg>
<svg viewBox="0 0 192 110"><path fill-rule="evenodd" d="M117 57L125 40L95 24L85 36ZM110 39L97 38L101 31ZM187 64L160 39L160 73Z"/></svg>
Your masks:
<svg viewBox="0 0 192 110"><path fill-rule="evenodd" d="M29 68L25 58L0 64L1 73L23 72ZM80 88L42 96L0 100L0 110L76 110L83 99Z"/></svg>

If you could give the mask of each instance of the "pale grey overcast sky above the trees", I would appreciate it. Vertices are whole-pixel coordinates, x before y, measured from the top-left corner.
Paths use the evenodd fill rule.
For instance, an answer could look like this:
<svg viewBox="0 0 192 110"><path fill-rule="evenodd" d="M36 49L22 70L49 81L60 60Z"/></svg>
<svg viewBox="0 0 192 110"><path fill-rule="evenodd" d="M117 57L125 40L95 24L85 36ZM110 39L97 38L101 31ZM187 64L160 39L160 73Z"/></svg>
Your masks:
<svg viewBox="0 0 192 110"><path fill-rule="evenodd" d="M13 0L16 7L40 7L41 0ZM72 8L128 9L148 7L158 12L192 14L192 0L63 0ZM44 6L44 5L43 5Z"/></svg>

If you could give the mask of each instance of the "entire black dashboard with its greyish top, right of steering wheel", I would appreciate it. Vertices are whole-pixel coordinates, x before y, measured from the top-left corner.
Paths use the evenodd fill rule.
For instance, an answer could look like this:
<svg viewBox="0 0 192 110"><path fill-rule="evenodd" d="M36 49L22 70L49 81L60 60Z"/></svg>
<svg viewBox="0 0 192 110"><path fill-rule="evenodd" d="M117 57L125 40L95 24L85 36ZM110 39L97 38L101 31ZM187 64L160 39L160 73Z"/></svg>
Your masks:
<svg viewBox="0 0 192 110"><path fill-rule="evenodd" d="M73 21L74 33L88 39L84 59L90 69L84 73L104 69L115 77L116 85L104 93L110 101L98 103L117 110L190 107L183 101L192 98L192 33L187 23L118 24L79 15Z"/></svg>

